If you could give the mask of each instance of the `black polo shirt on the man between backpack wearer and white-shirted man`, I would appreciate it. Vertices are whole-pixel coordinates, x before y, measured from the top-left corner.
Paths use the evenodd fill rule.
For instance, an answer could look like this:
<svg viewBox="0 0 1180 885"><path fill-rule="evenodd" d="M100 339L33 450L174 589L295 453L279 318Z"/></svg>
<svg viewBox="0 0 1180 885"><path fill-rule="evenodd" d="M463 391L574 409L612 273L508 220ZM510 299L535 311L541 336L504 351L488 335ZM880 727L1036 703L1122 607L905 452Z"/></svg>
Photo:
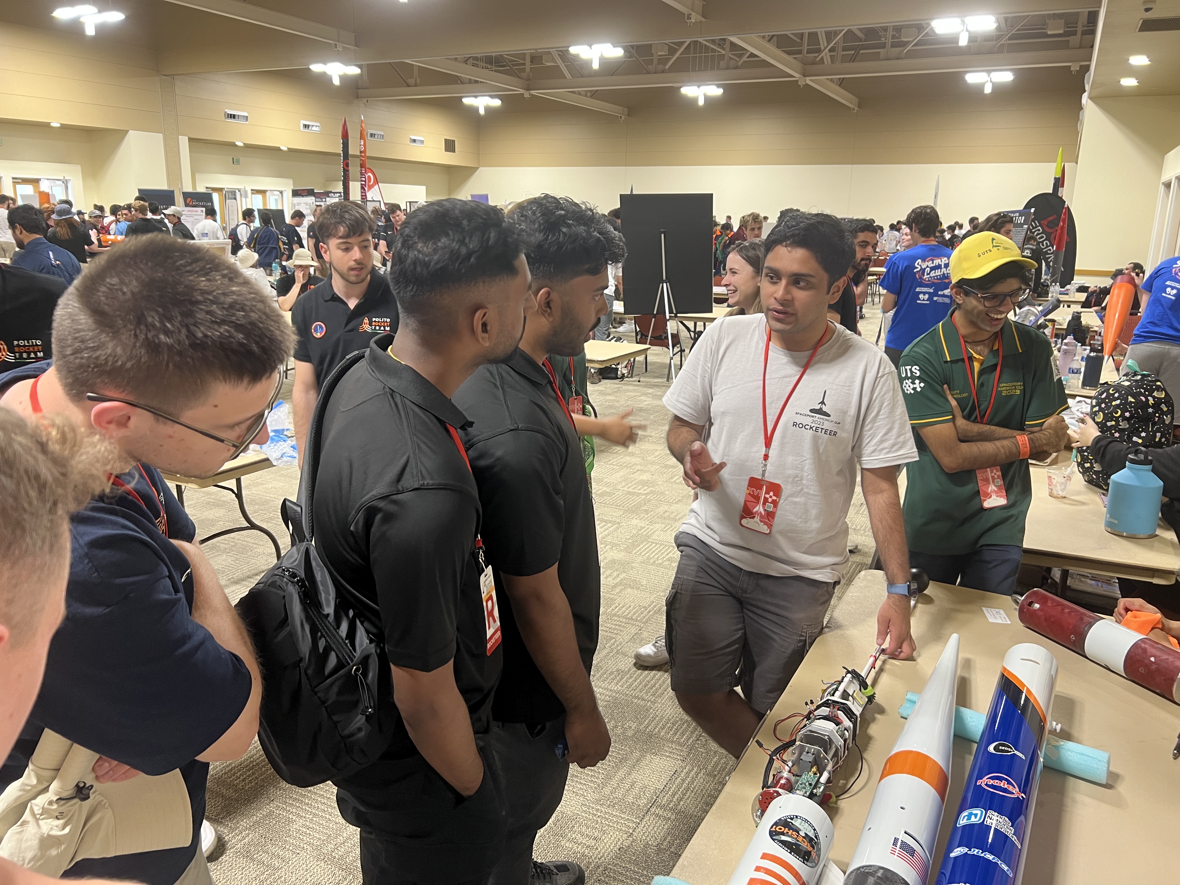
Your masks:
<svg viewBox="0 0 1180 885"><path fill-rule="evenodd" d="M477 369L454 402L472 420L463 438L479 485L504 632L504 676L492 715L499 722L540 725L565 708L525 648L502 572L537 575L557 564L578 654L590 673L602 582L582 446L549 374L524 350Z"/></svg>

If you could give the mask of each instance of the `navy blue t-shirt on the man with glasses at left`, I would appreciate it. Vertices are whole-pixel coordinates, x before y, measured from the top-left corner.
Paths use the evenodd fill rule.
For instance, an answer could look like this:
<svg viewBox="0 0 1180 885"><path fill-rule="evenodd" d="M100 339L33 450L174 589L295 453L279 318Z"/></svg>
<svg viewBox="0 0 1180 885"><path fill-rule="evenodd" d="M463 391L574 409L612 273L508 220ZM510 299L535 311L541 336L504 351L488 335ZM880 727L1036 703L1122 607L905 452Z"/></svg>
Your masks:
<svg viewBox="0 0 1180 885"><path fill-rule="evenodd" d="M48 366L14 369L4 385ZM196 756L237 721L250 673L191 617L192 570L169 538L191 542L196 526L159 471L137 465L120 479L138 500L117 486L122 493L91 502L70 520L66 616L13 756L51 728L144 774L179 768L192 805L188 847L92 858L68 871L71 878L173 885L199 850L209 765ZM19 776L27 756L13 756L7 769Z"/></svg>

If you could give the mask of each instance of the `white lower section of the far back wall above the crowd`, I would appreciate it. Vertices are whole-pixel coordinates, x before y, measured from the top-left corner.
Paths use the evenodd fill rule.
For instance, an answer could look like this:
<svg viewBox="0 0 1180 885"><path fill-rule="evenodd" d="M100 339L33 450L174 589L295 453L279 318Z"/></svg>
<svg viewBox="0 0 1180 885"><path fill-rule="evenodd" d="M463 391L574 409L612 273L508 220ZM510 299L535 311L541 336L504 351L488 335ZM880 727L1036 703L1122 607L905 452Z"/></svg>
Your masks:
<svg viewBox="0 0 1180 885"><path fill-rule="evenodd" d="M1067 198L1076 166L1067 164ZM962 163L914 165L763 165L763 166L485 166L452 172L451 195L487 194L492 203L510 203L552 192L584 199L602 209L618 205L618 195L712 192L719 219L760 211L774 218L780 209L824 210L867 216L881 224L904 218L935 196L944 221L983 217L1018 209L1034 194L1049 190L1053 163Z"/></svg>

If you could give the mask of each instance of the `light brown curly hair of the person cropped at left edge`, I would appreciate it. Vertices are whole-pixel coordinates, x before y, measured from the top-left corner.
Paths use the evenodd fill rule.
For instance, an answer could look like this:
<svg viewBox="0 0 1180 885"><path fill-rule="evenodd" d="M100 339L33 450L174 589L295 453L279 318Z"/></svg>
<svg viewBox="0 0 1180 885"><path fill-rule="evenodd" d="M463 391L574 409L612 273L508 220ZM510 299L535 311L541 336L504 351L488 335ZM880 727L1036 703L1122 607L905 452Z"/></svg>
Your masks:
<svg viewBox="0 0 1180 885"><path fill-rule="evenodd" d="M45 609L46 573L70 560L70 513L118 468L112 444L60 417L30 424L0 408L0 624L19 645Z"/></svg>

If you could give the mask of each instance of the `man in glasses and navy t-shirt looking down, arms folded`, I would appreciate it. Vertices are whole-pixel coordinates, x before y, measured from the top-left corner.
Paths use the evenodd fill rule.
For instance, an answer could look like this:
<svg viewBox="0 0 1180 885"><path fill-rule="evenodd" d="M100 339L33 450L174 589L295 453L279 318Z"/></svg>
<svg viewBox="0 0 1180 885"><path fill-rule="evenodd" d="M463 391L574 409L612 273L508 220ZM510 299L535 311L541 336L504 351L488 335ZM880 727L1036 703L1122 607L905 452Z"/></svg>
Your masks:
<svg viewBox="0 0 1180 885"><path fill-rule="evenodd" d="M71 873L209 885L199 835L209 762L249 749L262 684L160 470L208 477L263 441L294 336L232 264L172 237L138 237L61 296L53 345L52 362L4 376L0 405L96 432L123 472L71 519L65 618L5 771L20 776L44 728L101 754L100 784L179 769L189 845L86 859Z"/></svg>

